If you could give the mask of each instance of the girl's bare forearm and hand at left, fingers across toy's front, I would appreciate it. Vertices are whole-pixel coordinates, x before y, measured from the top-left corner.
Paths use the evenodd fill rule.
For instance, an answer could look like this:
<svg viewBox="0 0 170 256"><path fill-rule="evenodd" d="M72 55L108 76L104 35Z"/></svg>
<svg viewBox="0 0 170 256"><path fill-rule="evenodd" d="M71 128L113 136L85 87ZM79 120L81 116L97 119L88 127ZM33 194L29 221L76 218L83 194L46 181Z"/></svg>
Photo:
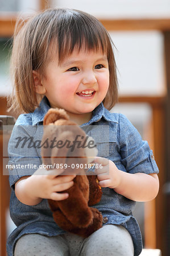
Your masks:
<svg viewBox="0 0 170 256"><path fill-rule="evenodd" d="M31 176L21 177L15 183L15 195L27 205L39 204L42 199L64 200L68 193L57 193L72 187L75 175L60 175L62 169L48 171L39 168Z"/></svg>

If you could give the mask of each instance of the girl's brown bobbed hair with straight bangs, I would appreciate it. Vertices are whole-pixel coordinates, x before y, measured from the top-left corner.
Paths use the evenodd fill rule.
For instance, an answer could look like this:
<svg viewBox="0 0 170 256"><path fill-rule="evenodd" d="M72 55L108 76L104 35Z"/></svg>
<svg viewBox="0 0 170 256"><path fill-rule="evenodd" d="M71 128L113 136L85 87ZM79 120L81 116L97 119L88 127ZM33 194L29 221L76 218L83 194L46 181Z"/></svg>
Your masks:
<svg viewBox="0 0 170 256"><path fill-rule="evenodd" d="M11 56L12 108L34 112L40 98L35 92L32 71L39 70L43 75L53 53L57 53L60 64L74 49L80 51L84 47L87 51L101 49L107 55L110 84L103 104L110 110L118 100L112 46L105 27L94 16L78 10L48 9L28 19L21 28L16 25Z"/></svg>

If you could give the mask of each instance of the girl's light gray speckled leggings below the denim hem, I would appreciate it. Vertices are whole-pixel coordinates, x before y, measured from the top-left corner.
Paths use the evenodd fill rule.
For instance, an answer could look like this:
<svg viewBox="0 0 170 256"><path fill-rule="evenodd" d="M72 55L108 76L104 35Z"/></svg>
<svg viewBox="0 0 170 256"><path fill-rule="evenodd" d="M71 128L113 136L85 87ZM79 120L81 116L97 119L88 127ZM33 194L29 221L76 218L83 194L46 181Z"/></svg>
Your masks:
<svg viewBox="0 0 170 256"><path fill-rule="evenodd" d="M14 256L133 256L128 231L120 225L105 225L88 238L65 233L55 237L25 234L16 242Z"/></svg>

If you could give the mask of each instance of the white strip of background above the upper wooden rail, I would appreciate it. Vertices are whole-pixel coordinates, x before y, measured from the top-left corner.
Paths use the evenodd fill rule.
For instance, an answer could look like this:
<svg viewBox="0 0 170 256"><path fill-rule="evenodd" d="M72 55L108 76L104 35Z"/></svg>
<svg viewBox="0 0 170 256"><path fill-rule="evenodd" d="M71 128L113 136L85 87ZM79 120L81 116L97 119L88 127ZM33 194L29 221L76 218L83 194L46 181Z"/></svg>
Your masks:
<svg viewBox="0 0 170 256"><path fill-rule="evenodd" d="M98 17L170 16L169 0L51 0L53 6L86 11Z"/></svg>

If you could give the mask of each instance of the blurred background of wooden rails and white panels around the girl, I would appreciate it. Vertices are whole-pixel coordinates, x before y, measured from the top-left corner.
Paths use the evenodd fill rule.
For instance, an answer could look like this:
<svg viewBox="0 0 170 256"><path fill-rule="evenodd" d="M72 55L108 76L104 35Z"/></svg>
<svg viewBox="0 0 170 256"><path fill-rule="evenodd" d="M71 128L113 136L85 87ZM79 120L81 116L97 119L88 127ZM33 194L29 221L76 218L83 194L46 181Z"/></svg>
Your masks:
<svg viewBox="0 0 170 256"><path fill-rule="evenodd" d="M18 15L48 7L68 7L98 18L109 31L118 68L119 103L111 110L125 114L154 151L159 166L160 191L155 200L137 203L134 215L146 248L170 251L170 1L169 0L0 0L0 128L7 123L6 96L12 91L9 77L10 48ZM3 116L2 116L3 115ZM2 120L2 121L1 121ZM0 129L1 131L1 129ZM9 216L10 188L2 168L1 141L1 253L15 228Z"/></svg>

